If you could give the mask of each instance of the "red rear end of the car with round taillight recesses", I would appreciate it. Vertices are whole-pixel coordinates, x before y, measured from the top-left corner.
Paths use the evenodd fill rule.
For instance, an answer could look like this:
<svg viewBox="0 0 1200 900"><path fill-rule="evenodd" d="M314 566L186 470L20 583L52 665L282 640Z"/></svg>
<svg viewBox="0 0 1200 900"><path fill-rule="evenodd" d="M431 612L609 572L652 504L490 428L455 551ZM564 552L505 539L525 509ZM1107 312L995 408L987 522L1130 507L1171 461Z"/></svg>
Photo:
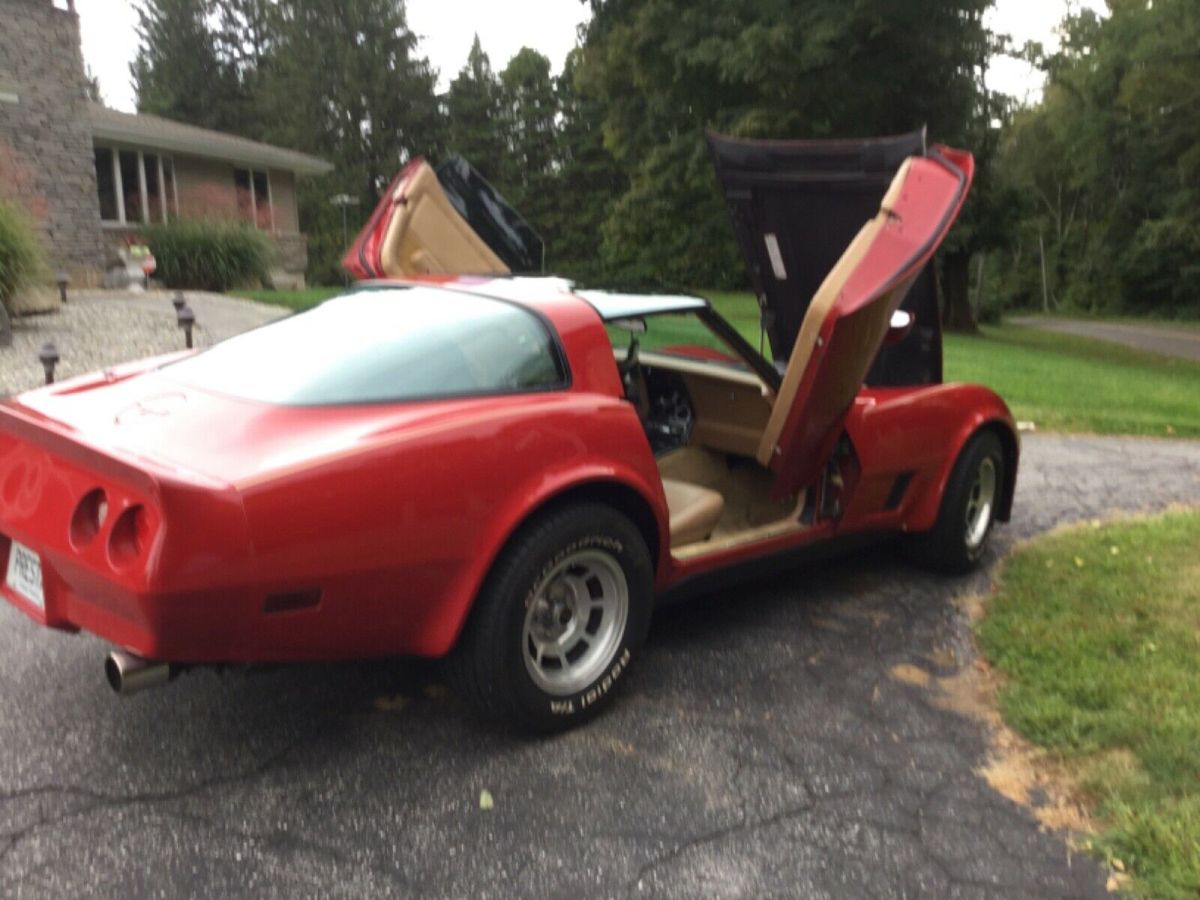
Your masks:
<svg viewBox="0 0 1200 900"><path fill-rule="evenodd" d="M14 540L41 563L41 607L7 583ZM232 487L0 407L0 594L35 622L150 659L221 654L245 596L216 587L251 583L252 571Z"/></svg>

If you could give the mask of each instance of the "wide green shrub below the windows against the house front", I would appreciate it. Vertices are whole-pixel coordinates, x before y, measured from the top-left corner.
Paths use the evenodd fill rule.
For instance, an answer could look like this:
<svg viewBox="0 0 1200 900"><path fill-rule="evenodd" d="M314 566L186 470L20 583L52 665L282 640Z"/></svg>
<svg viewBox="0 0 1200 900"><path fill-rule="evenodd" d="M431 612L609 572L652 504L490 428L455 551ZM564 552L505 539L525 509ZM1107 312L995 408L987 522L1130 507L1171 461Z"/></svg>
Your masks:
<svg viewBox="0 0 1200 900"><path fill-rule="evenodd" d="M223 292L266 278L270 241L244 222L180 220L151 226L144 236L155 275L169 288Z"/></svg>

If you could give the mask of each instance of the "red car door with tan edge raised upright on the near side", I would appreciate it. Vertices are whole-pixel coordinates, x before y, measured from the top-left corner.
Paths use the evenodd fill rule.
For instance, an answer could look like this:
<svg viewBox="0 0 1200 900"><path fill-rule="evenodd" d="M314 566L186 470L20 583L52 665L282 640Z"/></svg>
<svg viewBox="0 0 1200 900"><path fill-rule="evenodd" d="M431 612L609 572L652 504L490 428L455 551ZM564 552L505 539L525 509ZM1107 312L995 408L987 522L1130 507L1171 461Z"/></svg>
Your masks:
<svg viewBox="0 0 1200 900"><path fill-rule="evenodd" d="M958 217L973 174L970 154L944 146L907 158L812 295L758 445L778 494L817 479L893 313Z"/></svg>

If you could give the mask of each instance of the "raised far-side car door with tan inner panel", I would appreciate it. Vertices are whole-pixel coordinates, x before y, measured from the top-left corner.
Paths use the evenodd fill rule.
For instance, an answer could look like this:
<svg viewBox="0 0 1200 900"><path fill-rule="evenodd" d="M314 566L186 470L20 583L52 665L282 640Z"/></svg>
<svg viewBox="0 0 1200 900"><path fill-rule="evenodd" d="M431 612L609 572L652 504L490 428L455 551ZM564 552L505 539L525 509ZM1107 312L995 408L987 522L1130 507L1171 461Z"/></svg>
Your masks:
<svg viewBox="0 0 1200 900"><path fill-rule="evenodd" d="M408 163L342 265L355 278L504 275L541 268L541 238L462 157Z"/></svg>

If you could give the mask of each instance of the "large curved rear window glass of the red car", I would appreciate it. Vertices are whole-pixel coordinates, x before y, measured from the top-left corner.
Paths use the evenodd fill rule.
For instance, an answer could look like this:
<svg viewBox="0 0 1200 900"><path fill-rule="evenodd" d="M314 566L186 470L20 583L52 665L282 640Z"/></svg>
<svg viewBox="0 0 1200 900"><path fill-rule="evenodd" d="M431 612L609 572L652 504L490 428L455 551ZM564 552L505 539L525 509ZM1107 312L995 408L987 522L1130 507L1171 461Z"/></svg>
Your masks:
<svg viewBox="0 0 1200 900"><path fill-rule="evenodd" d="M428 288L329 300L162 371L204 390L290 406L509 394L566 380L536 316Z"/></svg>

